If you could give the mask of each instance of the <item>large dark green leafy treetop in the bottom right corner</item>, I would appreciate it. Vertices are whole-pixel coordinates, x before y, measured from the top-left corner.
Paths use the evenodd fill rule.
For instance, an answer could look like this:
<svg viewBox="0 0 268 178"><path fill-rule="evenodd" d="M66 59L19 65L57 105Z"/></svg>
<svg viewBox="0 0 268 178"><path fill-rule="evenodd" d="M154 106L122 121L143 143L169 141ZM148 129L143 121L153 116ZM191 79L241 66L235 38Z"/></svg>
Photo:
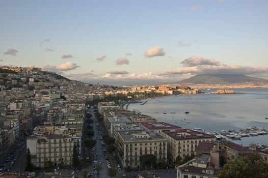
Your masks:
<svg viewBox="0 0 268 178"><path fill-rule="evenodd" d="M220 178L265 178L268 177L268 163L265 163L257 153L248 154L242 158L236 157L228 161L217 176Z"/></svg>

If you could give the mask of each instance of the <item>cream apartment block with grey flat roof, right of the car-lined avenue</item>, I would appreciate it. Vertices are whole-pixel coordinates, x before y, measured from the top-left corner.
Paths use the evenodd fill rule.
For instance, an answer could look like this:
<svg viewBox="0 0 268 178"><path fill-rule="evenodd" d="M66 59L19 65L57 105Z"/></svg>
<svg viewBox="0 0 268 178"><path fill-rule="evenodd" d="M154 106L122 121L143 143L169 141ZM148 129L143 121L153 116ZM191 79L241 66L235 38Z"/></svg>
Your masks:
<svg viewBox="0 0 268 178"><path fill-rule="evenodd" d="M155 132L118 132L118 153L124 167L141 166L142 155L155 155L158 161L167 161L167 139Z"/></svg>

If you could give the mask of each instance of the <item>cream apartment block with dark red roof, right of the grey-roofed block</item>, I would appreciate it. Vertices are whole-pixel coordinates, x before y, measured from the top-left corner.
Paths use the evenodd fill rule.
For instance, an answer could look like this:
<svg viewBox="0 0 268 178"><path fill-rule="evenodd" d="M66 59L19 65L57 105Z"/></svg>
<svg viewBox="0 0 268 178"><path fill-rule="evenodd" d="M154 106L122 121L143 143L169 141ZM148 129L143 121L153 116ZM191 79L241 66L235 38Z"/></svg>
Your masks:
<svg viewBox="0 0 268 178"><path fill-rule="evenodd" d="M195 154L196 146L201 141L216 141L216 137L190 129L164 130L160 132L168 140L168 159L175 162L179 156Z"/></svg>

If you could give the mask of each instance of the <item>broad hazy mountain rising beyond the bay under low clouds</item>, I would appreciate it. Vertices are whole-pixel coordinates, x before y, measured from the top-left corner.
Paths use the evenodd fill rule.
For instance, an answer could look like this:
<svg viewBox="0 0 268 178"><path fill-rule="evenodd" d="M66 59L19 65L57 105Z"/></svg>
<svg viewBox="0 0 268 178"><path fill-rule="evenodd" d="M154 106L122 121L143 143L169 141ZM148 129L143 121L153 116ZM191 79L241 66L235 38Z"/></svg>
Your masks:
<svg viewBox="0 0 268 178"><path fill-rule="evenodd" d="M228 84L245 82L268 84L268 80L242 74L198 74L191 78L179 81L179 83L193 84Z"/></svg>

